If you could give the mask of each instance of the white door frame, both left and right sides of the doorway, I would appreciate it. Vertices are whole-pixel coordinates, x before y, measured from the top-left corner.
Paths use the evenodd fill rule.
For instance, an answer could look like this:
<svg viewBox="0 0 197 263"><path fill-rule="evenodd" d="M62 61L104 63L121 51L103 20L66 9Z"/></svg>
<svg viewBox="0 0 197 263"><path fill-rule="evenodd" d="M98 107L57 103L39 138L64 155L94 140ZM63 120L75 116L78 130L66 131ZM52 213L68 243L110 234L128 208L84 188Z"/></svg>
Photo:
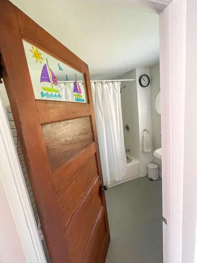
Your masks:
<svg viewBox="0 0 197 263"><path fill-rule="evenodd" d="M165 263L178 263L181 262L182 254L186 0L173 0L159 15L159 25L163 216L167 219L167 225L163 223L163 256ZM0 179L27 262L44 263L42 244L38 238L9 123L2 109L0 102L0 146L3 146L0 158L7 159L1 162L6 177L0 175Z"/></svg>

